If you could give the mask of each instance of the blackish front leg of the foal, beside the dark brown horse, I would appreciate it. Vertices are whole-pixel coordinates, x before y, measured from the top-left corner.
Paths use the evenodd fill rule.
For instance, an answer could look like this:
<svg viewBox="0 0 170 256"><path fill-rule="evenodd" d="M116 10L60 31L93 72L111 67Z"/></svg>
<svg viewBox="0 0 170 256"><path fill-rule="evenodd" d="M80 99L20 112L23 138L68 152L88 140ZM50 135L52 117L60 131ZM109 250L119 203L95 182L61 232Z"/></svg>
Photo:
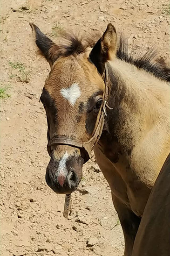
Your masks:
<svg viewBox="0 0 170 256"><path fill-rule="evenodd" d="M124 234L124 256L131 256L134 240L136 237L136 233L141 221L135 213L133 213L125 204L122 203L120 199L118 199L114 193L112 192L112 200L115 206L115 209L118 213L119 220L122 225L122 230Z"/></svg>

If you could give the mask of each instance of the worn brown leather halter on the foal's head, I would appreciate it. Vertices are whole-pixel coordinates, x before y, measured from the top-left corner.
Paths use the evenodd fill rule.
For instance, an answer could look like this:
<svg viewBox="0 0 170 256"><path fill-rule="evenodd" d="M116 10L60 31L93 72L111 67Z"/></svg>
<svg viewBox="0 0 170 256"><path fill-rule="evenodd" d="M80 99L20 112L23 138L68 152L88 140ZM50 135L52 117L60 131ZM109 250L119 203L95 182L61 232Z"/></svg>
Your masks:
<svg viewBox="0 0 170 256"><path fill-rule="evenodd" d="M97 144L99 141L101 135L102 135L102 130L104 126L104 116L107 116L106 113L106 107L109 109L112 109L111 107L108 106L107 100L108 100L108 66L105 64L105 70L103 72L104 74L104 83L105 83L105 90L103 93L102 97L102 105L100 107L99 113L97 115L97 119L95 122L95 128L92 133L92 137L87 141L87 142L79 142L75 140L71 140L69 138L53 138L49 140L48 138L48 154L51 156L51 146L57 146L57 145L69 145L75 148L79 148L83 150L83 153L85 153L85 162L87 162L90 159L91 151L94 148L94 146ZM102 75L103 77L103 75Z"/></svg>

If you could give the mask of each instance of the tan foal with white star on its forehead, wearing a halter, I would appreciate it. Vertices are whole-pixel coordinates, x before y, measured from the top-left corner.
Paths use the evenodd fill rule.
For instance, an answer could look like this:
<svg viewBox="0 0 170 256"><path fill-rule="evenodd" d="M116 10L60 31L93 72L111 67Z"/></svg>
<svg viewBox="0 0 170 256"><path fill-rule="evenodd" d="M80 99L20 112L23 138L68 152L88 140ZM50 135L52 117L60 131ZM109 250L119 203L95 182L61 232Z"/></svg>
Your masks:
<svg viewBox="0 0 170 256"><path fill-rule="evenodd" d="M131 256L150 191L170 151L170 69L149 51L128 54L109 23L97 42L55 44L30 23L51 71L41 94L48 122L48 185L70 194L94 149Z"/></svg>

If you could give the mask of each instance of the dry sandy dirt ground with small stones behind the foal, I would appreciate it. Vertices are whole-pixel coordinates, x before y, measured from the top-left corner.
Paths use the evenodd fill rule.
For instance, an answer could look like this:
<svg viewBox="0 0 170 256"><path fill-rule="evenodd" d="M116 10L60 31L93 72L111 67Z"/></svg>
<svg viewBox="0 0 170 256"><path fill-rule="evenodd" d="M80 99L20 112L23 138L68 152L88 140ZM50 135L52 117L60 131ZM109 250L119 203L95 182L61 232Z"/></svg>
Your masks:
<svg viewBox="0 0 170 256"><path fill-rule="evenodd" d="M68 219L64 196L45 182L47 124L39 98L49 66L36 53L28 21L54 41L61 29L102 32L112 22L130 46L143 51L153 45L168 59L168 0L1 0L0 5L0 88L7 89L0 99L0 255L122 256L121 225L94 156L83 167Z"/></svg>

